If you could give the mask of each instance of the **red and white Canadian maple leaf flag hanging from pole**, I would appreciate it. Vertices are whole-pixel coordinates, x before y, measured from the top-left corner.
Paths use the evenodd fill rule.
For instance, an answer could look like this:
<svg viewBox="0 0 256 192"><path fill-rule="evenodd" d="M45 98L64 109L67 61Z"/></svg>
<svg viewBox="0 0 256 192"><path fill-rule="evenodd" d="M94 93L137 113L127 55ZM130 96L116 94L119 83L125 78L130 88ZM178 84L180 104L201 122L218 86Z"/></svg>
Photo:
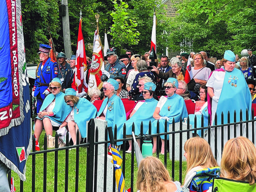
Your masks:
<svg viewBox="0 0 256 192"><path fill-rule="evenodd" d="M82 33L82 19L79 22L78 29L78 38L77 38L77 49L76 49L76 67L75 67L75 75L74 81L77 87L78 93L88 91L88 84L86 83L86 70L87 70L87 62L86 62L86 53L84 47L84 37Z"/></svg>

